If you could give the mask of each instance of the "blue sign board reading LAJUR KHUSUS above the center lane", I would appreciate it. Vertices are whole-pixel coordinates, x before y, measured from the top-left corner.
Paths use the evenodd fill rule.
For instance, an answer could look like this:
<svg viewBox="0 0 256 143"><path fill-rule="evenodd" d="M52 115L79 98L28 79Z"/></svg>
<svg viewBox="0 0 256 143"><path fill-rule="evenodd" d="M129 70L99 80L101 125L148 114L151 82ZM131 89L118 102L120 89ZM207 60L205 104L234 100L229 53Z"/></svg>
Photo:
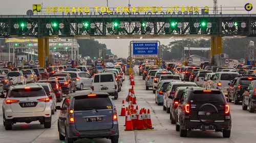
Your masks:
<svg viewBox="0 0 256 143"><path fill-rule="evenodd" d="M134 42L133 58L158 58L158 42Z"/></svg>

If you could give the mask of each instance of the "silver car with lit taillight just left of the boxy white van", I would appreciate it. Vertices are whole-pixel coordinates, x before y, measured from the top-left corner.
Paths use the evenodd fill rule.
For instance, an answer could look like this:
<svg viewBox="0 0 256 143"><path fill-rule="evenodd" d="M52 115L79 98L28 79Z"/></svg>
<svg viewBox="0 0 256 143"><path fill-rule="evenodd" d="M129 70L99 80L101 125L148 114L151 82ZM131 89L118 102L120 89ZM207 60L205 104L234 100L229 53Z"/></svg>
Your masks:
<svg viewBox="0 0 256 143"><path fill-rule="evenodd" d="M67 71L76 84L76 89L83 90L83 88L91 88L93 77L84 71Z"/></svg>

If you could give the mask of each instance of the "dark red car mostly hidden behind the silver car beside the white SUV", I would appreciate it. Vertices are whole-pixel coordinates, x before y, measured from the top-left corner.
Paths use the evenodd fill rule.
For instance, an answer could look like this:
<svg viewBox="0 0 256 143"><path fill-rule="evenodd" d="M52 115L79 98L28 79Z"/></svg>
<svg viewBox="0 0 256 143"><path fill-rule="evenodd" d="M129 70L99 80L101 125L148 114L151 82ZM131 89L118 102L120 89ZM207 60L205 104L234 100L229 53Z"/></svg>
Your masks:
<svg viewBox="0 0 256 143"><path fill-rule="evenodd" d="M57 99L57 102L61 102L62 100L62 89L61 87L59 86L59 81L56 80L56 79L42 79L42 80L39 80L38 82L46 82L46 83L50 83L52 85L52 89L55 93L55 96L56 96L56 99Z"/></svg>

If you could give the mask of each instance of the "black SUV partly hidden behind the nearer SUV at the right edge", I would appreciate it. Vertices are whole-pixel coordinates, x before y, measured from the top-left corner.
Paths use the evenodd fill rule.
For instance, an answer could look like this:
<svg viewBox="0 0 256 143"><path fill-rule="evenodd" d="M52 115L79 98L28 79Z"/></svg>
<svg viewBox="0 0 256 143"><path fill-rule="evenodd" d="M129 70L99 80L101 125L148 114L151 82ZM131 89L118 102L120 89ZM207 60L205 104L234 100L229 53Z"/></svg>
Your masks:
<svg viewBox="0 0 256 143"><path fill-rule="evenodd" d="M233 100L234 104L238 104L239 101L242 101L242 95L252 80L256 80L256 77L253 75L239 75L231 83L228 83L230 85L227 92L228 102Z"/></svg>

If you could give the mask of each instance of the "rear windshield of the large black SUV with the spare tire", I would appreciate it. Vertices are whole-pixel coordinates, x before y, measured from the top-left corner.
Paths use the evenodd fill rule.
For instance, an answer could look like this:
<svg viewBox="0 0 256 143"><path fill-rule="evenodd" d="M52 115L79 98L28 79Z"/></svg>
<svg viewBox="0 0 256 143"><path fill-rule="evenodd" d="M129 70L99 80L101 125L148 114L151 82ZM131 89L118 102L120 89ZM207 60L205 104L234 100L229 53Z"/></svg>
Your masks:
<svg viewBox="0 0 256 143"><path fill-rule="evenodd" d="M193 93L191 95L190 101L193 101L193 103L225 103L225 99L223 98L223 95L217 94L217 93Z"/></svg>

